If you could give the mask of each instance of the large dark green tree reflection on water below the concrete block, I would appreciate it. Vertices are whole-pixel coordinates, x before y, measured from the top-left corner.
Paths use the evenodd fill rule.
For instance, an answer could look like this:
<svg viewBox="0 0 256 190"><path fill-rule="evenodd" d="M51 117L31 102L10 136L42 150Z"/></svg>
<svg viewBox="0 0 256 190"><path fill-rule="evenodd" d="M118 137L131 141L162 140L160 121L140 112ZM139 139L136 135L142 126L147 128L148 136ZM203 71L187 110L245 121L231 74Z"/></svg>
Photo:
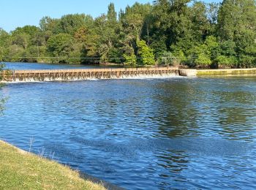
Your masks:
<svg viewBox="0 0 256 190"><path fill-rule="evenodd" d="M167 137L182 137L186 135L196 135L197 120L195 115L198 115L198 109L194 106L193 97L195 91L189 83L183 83L182 80L173 81L173 83L164 83L157 86L156 91L162 91L162 94L157 96L161 102L159 104L159 129L161 134ZM179 91L184 91L183 94L178 94Z"/></svg>

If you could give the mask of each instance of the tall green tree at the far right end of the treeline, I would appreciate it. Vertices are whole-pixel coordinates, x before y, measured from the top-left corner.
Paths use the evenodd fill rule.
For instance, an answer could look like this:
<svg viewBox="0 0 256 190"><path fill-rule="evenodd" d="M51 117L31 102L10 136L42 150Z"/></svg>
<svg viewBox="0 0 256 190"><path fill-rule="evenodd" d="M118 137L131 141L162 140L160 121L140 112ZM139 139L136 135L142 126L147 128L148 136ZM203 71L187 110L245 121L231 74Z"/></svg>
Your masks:
<svg viewBox="0 0 256 190"><path fill-rule="evenodd" d="M239 66L256 65L256 5L254 0L225 0L219 9L218 31L222 42L236 43Z"/></svg>

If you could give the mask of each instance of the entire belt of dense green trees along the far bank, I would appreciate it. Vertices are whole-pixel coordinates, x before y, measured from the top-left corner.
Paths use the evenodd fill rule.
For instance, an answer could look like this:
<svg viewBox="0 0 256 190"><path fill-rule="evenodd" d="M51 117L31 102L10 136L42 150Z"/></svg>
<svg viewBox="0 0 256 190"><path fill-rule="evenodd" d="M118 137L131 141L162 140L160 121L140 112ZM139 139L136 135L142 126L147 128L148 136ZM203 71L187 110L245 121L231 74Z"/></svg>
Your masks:
<svg viewBox="0 0 256 190"><path fill-rule="evenodd" d="M1 61L236 68L256 66L255 0L135 3L119 13L45 17L0 31Z"/></svg>

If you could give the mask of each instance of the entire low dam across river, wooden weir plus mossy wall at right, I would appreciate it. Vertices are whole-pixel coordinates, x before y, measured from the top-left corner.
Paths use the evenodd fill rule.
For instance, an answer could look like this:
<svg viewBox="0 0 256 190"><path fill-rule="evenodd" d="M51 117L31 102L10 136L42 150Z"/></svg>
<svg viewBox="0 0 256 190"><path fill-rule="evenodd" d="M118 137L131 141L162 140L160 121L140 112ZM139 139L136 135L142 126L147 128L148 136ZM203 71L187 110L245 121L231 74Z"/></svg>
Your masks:
<svg viewBox="0 0 256 190"><path fill-rule="evenodd" d="M158 77L233 77L256 76L256 69L176 69L172 67L118 69L43 69L4 70L2 82L37 82Z"/></svg>

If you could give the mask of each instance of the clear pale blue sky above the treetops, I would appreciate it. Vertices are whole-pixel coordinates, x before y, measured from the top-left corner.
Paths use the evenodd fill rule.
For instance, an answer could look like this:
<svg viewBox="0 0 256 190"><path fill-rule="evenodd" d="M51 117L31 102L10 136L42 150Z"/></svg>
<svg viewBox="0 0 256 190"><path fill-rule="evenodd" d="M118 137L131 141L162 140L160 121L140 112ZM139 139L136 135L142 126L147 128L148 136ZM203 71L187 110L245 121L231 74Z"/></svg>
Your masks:
<svg viewBox="0 0 256 190"><path fill-rule="evenodd" d="M132 5L136 0L0 0L0 28L12 31L18 26L35 25L43 16L60 18L71 13L85 13L97 17L107 11L108 4L113 2L116 10ZM221 0L204 0L219 2ZM140 3L152 0L138 0Z"/></svg>

